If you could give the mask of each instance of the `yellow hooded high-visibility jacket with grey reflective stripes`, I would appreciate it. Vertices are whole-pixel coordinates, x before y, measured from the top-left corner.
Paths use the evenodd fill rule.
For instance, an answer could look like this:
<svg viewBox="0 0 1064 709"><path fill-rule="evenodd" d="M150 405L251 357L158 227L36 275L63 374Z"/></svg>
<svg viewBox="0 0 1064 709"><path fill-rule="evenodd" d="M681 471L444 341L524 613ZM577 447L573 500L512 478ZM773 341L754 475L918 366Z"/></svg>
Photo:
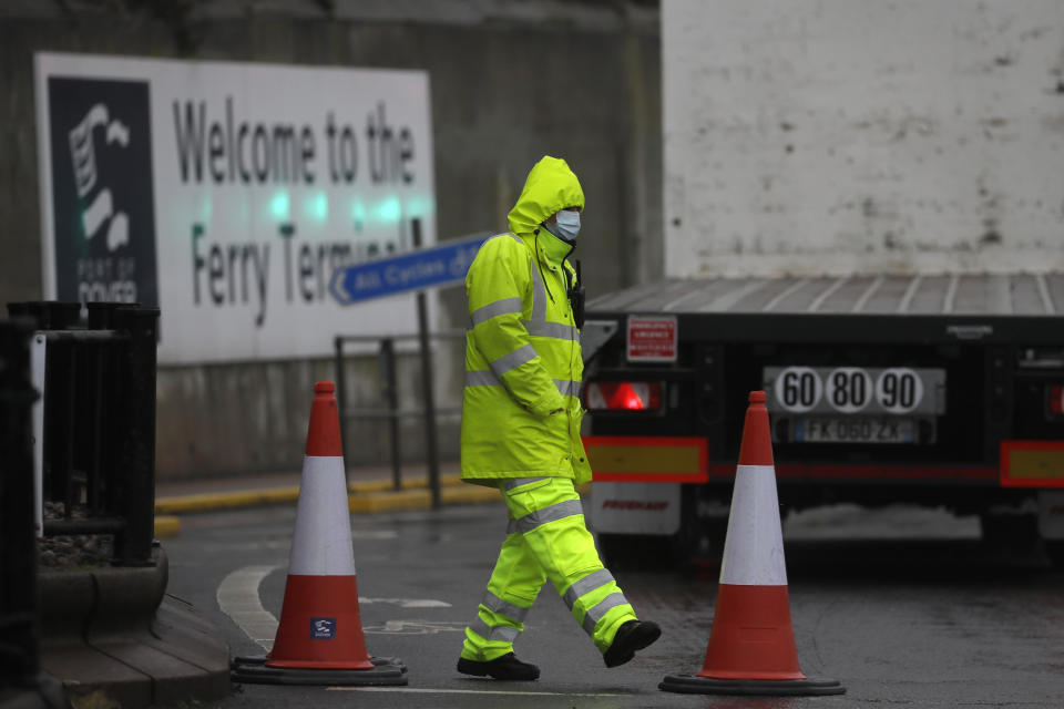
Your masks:
<svg viewBox="0 0 1064 709"><path fill-rule="evenodd" d="M572 247L540 227L567 207L584 207L580 182L565 161L543 157L510 212L510 232L485 242L466 276L467 482L591 480L580 438L584 363L567 297L576 281L565 260Z"/></svg>

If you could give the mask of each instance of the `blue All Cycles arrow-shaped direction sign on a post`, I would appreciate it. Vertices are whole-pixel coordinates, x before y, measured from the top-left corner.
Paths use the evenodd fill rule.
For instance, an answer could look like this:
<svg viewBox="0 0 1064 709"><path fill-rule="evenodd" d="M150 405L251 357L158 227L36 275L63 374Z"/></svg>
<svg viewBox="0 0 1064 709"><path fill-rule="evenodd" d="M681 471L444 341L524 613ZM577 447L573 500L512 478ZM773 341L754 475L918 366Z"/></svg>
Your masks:
<svg viewBox="0 0 1064 709"><path fill-rule="evenodd" d="M399 256L345 266L332 271L329 292L349 306L360 300L447 286L466 279L477 250L490 235L479 234Z"/></svg>

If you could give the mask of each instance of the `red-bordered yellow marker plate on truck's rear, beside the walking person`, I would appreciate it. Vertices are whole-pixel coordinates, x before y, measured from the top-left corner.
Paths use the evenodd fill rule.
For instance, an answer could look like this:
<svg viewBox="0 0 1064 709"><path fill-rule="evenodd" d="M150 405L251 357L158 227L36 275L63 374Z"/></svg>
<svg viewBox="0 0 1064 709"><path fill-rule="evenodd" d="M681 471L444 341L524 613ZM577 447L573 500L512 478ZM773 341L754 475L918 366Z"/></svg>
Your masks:
<svg viewBox="0 0 1064 709"><path fill-rule="evenodd" d="M709 453L700 436L585 435L595 482L704 483Z"/></svg>

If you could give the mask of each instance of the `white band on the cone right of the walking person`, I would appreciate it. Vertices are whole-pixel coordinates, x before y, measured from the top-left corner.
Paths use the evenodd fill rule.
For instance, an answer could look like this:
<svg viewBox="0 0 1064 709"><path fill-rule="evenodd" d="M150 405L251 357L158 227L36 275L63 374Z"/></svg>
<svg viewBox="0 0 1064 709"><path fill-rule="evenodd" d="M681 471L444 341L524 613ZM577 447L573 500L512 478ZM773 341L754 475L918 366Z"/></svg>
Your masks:
<svg viewBox="0 0 1064 709"><path fill-rule="evenodd" d="M739 465L735 472L720 583L787 585L776 469L771 465Z"/></svg>

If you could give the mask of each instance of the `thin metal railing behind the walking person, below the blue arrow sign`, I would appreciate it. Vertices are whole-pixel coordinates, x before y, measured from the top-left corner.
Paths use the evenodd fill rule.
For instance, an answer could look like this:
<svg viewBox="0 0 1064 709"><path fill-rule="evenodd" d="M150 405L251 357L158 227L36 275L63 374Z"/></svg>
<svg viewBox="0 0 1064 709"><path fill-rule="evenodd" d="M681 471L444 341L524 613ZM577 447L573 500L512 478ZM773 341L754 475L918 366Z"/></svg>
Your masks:
<svg viewBox="0 0 1064 709"><path fill-rule="evenodd" d="M460 414L462 410L461 407L436 405L432 382L433 366L429 348L429 340L458 340L464 337L466 333L462 330L441 330L439 332L424 332L423 335L337 335L334 338L336 398L340 417L340 439L344 450L350 450L347 445L347 423L349 421L356 419L386 419L388 421L389 431L388 439L390 446L392 485L396 490L400 490L402 487L402 462L401 451L399 448L400 420L405 418L421 417L424 420L426 455L428 458L429 485L432 487L433 507L439 506L439 452L436 441L436 421L440 415L457 415ZM422 407L417 409L400 409L396 342L410 340L418 340L419 342ZM381 395L386 405L385 408L377 409L352 409L348 405L347 387L345 386L345 347L347 345L367 343L378 343L378 369L380 371Z"/></svg>

